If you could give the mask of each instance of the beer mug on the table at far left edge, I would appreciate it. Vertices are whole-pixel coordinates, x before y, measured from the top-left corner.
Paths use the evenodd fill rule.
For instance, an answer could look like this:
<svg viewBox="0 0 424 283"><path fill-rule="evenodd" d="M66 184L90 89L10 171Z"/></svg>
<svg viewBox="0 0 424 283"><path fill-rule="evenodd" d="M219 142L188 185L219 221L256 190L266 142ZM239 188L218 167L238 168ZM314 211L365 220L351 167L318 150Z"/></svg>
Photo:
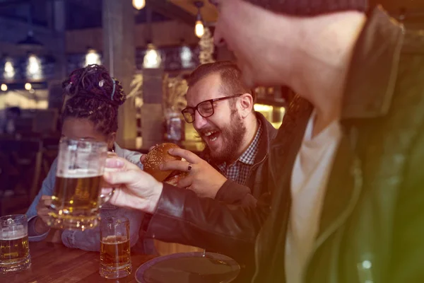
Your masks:
<svg viewBox="0 0 424 283"><path fill-rule="evenodd" d="M31 266L28 219L24 214L0 217L0 273L26 270Z"/></svg>

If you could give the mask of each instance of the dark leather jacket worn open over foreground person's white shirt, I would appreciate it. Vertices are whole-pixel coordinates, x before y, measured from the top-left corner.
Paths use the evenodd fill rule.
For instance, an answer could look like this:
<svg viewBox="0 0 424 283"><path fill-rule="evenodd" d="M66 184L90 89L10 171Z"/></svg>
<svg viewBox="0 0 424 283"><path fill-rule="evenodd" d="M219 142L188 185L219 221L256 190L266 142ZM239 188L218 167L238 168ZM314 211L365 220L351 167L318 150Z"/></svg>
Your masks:
<svg viewBox="0 0 424 283"><path fill-rule="evenodd" d="M423 33L377 8L355 47L345 134L304 282L424 282L423 79ZM312 110L296 101L271 146L271 194L242 207L165 185L148 235L254 261L252 282L285 282L290 175Z"/></svg>

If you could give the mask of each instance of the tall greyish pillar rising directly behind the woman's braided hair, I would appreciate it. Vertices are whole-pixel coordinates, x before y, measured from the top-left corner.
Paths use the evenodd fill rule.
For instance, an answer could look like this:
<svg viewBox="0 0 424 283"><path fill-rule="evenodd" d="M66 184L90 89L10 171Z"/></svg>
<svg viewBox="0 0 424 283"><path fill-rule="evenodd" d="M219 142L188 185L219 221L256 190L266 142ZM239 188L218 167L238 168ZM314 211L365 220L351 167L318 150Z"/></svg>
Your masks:
<svg viewBox="0 0 424 283"><path fill-rule="evenodd" d="M122 82L125 93L136 69L134 45L134 8L131 0L103 0L103 64ZM136 144L136 108L134 98L127 98L119 108L117 143L134 149Z"/></svg>

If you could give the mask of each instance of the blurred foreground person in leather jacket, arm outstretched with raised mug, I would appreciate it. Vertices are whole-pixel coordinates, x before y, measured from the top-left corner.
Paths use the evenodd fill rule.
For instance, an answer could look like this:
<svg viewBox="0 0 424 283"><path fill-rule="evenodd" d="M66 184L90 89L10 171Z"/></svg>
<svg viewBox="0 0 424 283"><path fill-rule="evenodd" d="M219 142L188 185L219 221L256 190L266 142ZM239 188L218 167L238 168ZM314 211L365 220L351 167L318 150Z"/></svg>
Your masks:
<svg viewBox="0 0 424 283"><path fill-rule="evenodd" d="M302 96L271 146L269 216L118 158L107 161L121 171L106 180L123 184L112 203L153 214L155 238L254 257L252 282L423 282L423 33L379 6L366 14L363 0L218 4L215 42L247 85Z"/></svg>

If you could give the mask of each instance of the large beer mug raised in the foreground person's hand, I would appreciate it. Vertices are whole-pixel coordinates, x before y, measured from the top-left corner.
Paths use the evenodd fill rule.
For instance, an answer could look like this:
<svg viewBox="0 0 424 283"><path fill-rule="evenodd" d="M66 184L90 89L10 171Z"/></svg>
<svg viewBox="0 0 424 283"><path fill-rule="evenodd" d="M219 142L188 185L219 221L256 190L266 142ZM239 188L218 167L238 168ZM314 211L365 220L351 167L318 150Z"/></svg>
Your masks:
<svg viewBox="0 0 424 283"><path fill-rule="evenodd" d="M101 194L106 158L105 142L61 139L49 226L81 231L98 226L100 207L113 194Z"/></svg>

